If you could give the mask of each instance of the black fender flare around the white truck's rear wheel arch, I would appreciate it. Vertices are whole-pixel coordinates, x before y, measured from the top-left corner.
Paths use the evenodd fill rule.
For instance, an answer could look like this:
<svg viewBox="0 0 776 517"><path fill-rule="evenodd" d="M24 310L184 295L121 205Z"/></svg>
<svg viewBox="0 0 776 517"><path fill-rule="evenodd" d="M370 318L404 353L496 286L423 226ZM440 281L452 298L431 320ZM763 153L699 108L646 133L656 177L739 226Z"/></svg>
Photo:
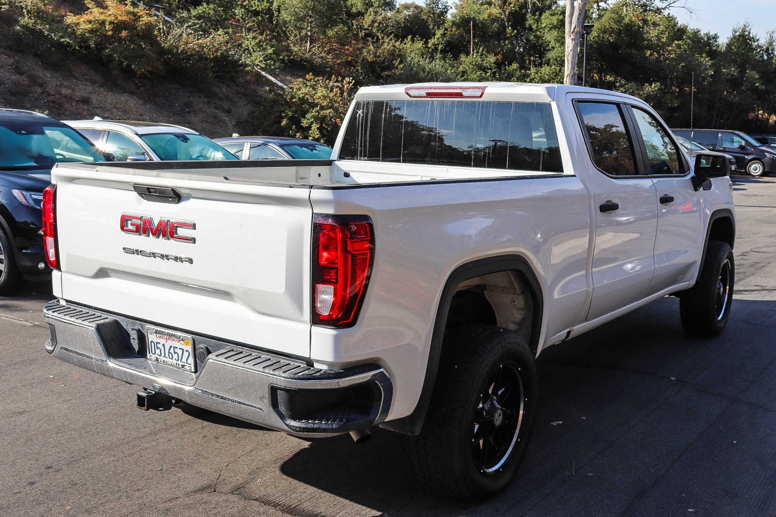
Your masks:
<svg viewBox="0 0 776 517"><path fill-rule="evenodd" d="M428 412L428 405L431 402L431 395L436 384L440 358L442 357L442 342L445 336L447 315L450 310L452 297L456 294L456 288L462 281L469 280L469 278L500 271L518 271L518 274L528 284L534 303L531 342L528 344L535 353L539 346L539 336L542 333L544 297L539 279L536 277L531 265L528 264L528 260L525 260L520 255L499 255L462 264L452 271L445 281L445 287L442 288L442 295L439 298L434 321L434 332L431 336L431 347L428 350L428 363L426 364L423 388L421 389L420 397L417 399L417 405L415 405L411 414L390 422L383 422L380 424L380 427L408 435L421 433L426 412Z"/></svg>

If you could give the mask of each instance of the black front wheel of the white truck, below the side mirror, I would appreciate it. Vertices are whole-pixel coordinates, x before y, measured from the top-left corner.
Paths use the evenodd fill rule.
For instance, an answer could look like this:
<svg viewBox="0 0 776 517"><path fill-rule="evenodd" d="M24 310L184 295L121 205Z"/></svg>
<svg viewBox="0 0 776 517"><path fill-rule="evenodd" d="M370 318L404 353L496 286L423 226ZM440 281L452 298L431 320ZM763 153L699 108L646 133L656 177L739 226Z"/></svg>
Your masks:
<svg viewBox="0 0 776 517"><path fill-rule="evenodd" d="M719 336L733 305L736 262L728 243L708 241L698 281L681 294L679 313L684 331L691 336Z"/></svg>

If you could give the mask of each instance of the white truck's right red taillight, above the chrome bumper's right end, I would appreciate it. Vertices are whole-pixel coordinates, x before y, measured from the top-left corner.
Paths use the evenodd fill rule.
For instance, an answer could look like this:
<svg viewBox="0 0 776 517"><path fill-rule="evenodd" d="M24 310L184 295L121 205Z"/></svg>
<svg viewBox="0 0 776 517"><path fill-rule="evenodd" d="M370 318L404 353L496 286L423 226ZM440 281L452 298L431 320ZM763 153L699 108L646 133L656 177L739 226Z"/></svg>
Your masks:
<svg viewBox="0 0 776 517"><path fill-rule="evenodd" d="M375 236L369 217L314 216L314 324L347 327L355 323L374 257Z"/></svg>

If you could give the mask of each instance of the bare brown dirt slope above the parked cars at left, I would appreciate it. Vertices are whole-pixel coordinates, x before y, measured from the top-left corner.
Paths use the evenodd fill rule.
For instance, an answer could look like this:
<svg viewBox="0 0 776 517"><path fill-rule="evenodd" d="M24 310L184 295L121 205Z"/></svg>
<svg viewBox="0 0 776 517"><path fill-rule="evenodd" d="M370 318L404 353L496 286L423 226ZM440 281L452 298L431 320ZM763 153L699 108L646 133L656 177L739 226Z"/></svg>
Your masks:
<svg viewBox="0 0 776 517"><path fill-rule="evenodd" d="M246 77L222 81L206 91L131 75L116 78L105 68L75 60L43 64L31 53L10 50L0 41L0 107L32 109L55 119L99 115L168 122L218 138L237 131L236 122L262 102L268 84L261 76Z"/></svg>

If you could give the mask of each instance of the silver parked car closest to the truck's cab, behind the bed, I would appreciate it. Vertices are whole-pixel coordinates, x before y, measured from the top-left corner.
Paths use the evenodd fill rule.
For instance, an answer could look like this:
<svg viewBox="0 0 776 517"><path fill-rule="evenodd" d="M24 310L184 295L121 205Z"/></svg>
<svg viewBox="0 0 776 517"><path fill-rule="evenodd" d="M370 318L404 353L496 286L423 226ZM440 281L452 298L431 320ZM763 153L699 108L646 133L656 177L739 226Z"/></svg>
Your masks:
<svg viewBox="0 0 776 517"><path fill-rule="evenodd" d="M213 140L242 160L328 160L331 147L288 136L240 136Z"/></svg>

